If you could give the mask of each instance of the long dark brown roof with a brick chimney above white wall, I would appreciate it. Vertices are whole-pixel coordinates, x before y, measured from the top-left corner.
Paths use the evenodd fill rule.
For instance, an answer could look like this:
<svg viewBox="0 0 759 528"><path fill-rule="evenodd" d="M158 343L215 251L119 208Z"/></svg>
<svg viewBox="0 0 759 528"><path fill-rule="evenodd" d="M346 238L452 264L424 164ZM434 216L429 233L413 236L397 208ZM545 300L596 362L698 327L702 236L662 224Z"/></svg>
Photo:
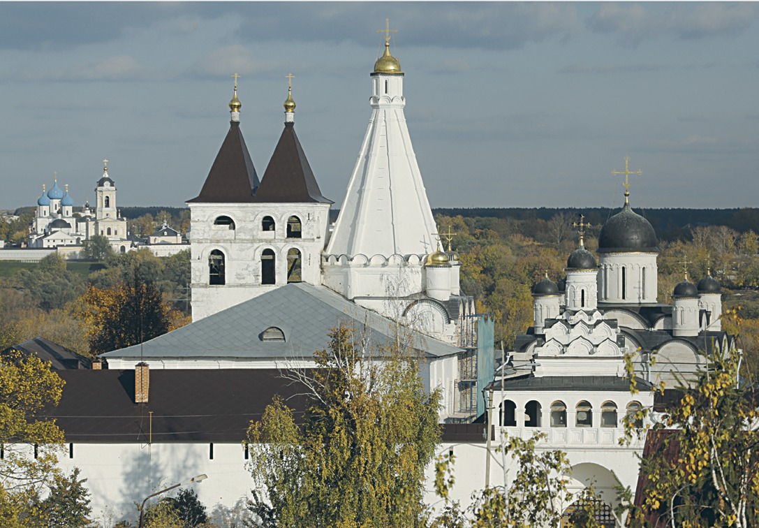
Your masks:
<svg viewBox="0 0 759 528"><path fill-rule="evenodd" d="M276 369L152 369L148 403L134 403L134 370L59 371L61 401L46 416L68 442L147 443L152 440L241 442L279 394L298 419L306 406L299 384Z"/></svg>

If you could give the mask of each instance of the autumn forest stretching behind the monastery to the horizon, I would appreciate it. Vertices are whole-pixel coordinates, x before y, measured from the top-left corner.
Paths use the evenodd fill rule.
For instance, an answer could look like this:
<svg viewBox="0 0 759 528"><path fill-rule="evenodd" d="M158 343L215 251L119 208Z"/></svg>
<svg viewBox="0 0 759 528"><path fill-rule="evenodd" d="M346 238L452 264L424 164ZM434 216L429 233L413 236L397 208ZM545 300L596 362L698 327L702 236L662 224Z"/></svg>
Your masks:
<svg viewBox="0 0 759 528"><path fill-rule="evenodd" d="M583 213L584 221L591 224L585 245L594 251L600 227L615 211L435 212L439 232L450 228L452 248L461 255L462 291L475 297L479 311L495 315L496 343L503 341L508 349L532 322L531 286L546 272L554 281L564 277L566 258L578 244L578 232L572 226L578 214ZM18 220L0 222L0 236L11 243L18 232L28 232L33 210L25 207L16 213ZM129 219L130 231L138 235L146 236L164 221L181 232L189 228L187 209L124 207L121 214ZM741 334L748 368L759 368L759 209L661 209L644 211L644 215L659 238L659 302L670 302L672 289L683 279L686 268L694 282L710 270L722 283L726 308L740 308L742 328L727 329ZM150 332L146 334L144 316L141 324L136 323L123 308L130 295L142 296L131 302L150 304L153 299L151 309L157 310L161 322L151 332L189 321L189 251L169 258L156 258L147 250L114 255L97 238L84 251L90 261L49 257L39 264L0 266L2 348L38 335L83 354L134 344L132 340L146 338ZM156 304L156 299L160 303ZM116 307L121 307L121 312ZM143 313L147 308L143 306ZM99 325L131 327L126 333L131 332L132 337L103 337Z"/></svg>

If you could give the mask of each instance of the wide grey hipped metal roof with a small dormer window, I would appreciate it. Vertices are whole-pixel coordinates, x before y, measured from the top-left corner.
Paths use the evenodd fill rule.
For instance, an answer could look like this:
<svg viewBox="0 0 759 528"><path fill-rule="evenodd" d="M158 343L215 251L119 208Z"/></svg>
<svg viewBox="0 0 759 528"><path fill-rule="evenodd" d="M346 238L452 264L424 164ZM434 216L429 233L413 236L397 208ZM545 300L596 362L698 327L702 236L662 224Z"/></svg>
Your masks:
<svg viewBox="0 0 759 528"><path fill-rule="evenodd" d="M140 345L102 354L104 359L275 359L307 358L325 349L327 333L340 323L359 332L367 325L370 346L395 341L394 323L324 286L290 283ZM261 334L278 327L285 341L263 341ZM427 356L450 356L461 349L411 334L414 347ZM141 349L141 350L140 350Z"/></svg>

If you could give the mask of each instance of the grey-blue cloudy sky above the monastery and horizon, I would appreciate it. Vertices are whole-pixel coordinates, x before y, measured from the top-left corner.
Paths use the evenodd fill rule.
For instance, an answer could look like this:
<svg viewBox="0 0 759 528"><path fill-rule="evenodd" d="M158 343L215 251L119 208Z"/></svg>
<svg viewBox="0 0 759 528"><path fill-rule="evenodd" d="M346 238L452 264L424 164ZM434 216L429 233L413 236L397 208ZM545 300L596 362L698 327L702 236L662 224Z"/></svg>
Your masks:
<svg viewBox="0 0 759 528"><path fill-rule="evenodd" d="M295 129L340 207L391 50L432 207L759 207L759 4L0 2L0 208L54 173L183 207L229 127L259 175Z"/></svg>

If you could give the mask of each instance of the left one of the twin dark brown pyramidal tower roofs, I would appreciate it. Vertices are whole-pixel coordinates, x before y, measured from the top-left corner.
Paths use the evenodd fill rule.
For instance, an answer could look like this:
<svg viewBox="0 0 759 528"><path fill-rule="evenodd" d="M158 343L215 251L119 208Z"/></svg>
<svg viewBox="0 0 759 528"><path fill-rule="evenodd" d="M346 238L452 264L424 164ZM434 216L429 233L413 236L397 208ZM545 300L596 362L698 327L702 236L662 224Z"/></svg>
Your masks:
<svg viewBox="0 0 759 528"><path fill-rule="evenodd" d="M258 185L258 175L245 146L240 122L232 121L200 194L187 202L250 202Z"/></svg>

